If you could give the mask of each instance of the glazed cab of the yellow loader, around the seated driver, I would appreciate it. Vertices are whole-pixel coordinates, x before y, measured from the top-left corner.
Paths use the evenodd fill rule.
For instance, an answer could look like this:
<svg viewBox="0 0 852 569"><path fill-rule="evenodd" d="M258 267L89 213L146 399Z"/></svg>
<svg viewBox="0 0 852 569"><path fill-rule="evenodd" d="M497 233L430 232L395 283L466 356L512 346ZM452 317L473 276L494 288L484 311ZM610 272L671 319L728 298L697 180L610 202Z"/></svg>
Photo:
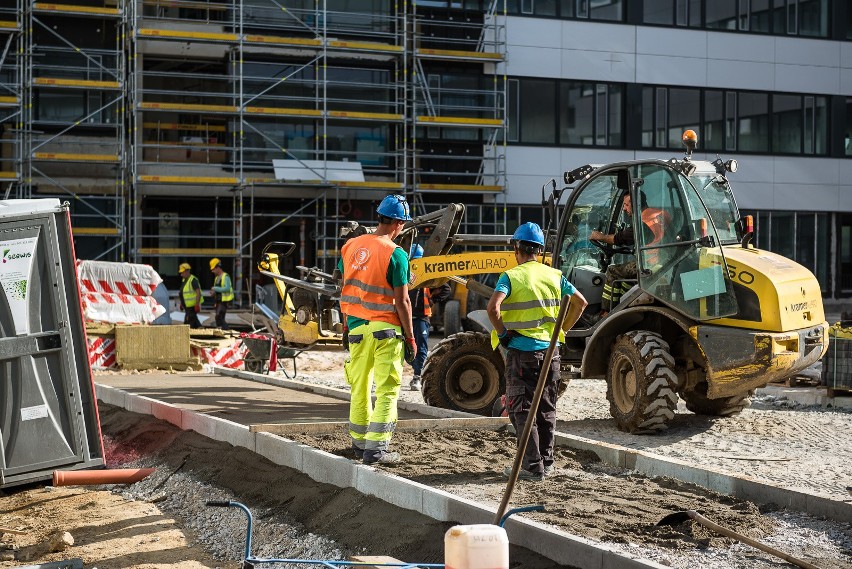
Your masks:
<svg viewBox="0 0 852 569"><path fill-rule="evenodd" d="M724 227L720 239L714 223L719 212L708 209L675 163L645 160L584 168L578 169L584 175L561 216L554 266L586 297L587 316L601 309L607 267L630 262L636 263L636 276L616 283L630 292L613 312L645 292L694 320L736 313L721 248L731 238L730 228ZM566 181L571 182L569 175ZM590 238L592 231L614 234L630 228L632 246ZM578 324L597 325L593 318Z"/></svg>

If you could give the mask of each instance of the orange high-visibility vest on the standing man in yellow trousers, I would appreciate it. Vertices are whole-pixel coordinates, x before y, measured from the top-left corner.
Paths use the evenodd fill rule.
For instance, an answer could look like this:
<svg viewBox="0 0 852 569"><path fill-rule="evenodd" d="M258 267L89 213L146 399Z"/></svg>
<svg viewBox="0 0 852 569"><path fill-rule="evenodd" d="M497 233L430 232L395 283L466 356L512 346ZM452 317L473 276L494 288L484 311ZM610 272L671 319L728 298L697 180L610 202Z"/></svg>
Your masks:
<svg viewBox="0 0 852 569"><path fill-rule="evenodd" d="M347 316L401 326L388 283L390 258L397 245L384 237L361 235L349 240L343 255L343 289L340 309Z"/></svg>

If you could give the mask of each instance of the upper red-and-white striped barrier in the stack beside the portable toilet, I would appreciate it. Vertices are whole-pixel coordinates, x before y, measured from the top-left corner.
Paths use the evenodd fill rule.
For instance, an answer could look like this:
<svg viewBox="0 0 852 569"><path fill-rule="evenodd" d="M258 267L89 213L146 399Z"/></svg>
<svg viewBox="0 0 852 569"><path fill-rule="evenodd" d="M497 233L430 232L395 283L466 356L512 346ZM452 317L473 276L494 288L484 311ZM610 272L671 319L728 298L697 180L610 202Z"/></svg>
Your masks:
<svg viewBox="0 0 852 569"><path fill-rule="evenodd" d="M77 279L82 292L105 292L150 296L162 277L151 265L77 261Z"/></svg>

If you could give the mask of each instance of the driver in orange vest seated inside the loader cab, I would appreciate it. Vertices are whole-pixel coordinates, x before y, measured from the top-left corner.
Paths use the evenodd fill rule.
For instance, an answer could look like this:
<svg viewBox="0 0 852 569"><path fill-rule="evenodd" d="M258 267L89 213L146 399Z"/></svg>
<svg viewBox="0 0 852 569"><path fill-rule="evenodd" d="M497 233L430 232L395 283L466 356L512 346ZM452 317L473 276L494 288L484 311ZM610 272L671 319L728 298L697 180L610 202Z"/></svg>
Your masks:
<svg viewBox="0 0 852 569"><path fill-rule="evenodd" d="M641 194L640 194L641 195ZM670 223L671 216L668 212L661 209L647 207L647 204L642 204L642 225L645 231L650 232L649 238L646 239L645 246L653 246L662 241L665 227ZM627 227L618 233L601 233L600 231L592 231L589 239L593 241L601 241L609 245L633 247L636 243L636 236L633 230L633 206L630 201L630 194L624 195L624 201L621 204L621 209L627 217ZM647 265L655 265L659 257L658 249L651 249L645 253L645 261ZM638 271L636 261L628 261L621 264L611 264L606 269L606 280L604 282L603 293L601 294L601 312L595 318L595 321L604 318L609 314L610 310L619 303L621 296L630 290L633 286L628 280L635 280Z"/></svg>

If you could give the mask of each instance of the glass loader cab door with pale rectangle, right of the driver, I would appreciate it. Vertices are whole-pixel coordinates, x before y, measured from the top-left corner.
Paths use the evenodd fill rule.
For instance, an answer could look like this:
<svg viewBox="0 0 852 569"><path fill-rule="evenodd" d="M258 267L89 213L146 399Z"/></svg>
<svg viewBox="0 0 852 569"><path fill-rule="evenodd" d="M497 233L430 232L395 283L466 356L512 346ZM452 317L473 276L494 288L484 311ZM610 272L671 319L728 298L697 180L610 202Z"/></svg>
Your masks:
<svg viewBox="0 0 852 569"><path fill-rule="evenodd" d="M737 313L721 243L701 197L665 163L630 168L639 284L695 320Z"/></svg>

